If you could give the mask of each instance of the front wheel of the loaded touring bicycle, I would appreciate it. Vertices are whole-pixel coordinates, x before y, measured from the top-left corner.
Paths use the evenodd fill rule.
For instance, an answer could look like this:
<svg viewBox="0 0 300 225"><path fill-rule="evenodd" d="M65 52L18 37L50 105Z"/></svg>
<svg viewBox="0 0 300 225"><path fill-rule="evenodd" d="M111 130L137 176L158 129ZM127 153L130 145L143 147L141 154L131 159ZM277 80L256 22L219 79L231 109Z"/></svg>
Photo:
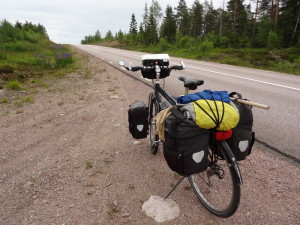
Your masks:
<svg viewBox="0 0 300 225"><path fill-rule="evenodd" d="M149 94L149 119L148 119L148 125L149 125L149 139L150 139L150 147L151 147L151 153L153 155L156 155L158 152L158 146L159 146L159 137L155 133L156 130L156 124L154 121L154 118L156 117L158 113L158 107L156 105L155 96L154 93Z"/></svg>

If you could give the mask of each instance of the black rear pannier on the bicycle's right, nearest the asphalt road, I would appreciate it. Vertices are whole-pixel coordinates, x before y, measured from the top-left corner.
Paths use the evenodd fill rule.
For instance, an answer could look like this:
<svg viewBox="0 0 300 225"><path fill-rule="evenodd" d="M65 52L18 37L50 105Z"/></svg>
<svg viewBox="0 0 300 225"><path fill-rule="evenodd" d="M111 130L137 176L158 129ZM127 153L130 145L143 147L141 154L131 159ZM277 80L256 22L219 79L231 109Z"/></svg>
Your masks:
<svg viewBox="0 0 300 225"><path fill-rule="evenodd" d="M241 94L232 92L230 97L236 95L242 99ZM252 131L253 114L252 108L249 105L239 103L237 100L232 100L240 114L240 121L235 128L232 129L232 137L226 142L231 148L236 160L244 160L251 153L252 146L255 141L255 133Z"/></svg>

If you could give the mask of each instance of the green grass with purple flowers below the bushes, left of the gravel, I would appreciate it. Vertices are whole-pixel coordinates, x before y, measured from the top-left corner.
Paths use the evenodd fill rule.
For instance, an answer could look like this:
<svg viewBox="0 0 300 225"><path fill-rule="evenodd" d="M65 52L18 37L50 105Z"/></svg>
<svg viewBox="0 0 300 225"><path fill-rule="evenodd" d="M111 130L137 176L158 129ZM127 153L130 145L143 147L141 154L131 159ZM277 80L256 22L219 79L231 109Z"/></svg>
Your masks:
<svg viewBox="0 0 300 225"><path fill-rule="evenodd" d="M9 90L0 98L2 107L21 108L27 103L33 103L34 97L31 95L36 95L41 88L51 91L49 87L57 79L86 66L67 46L55 46L60 45L47 39L39 39L35 43L0 42L0 89ZM46 61L41 58L44 56ZM59 89L60 92L64 90L64 87ZM16 113L23 113L23 110Z"/></svg>

